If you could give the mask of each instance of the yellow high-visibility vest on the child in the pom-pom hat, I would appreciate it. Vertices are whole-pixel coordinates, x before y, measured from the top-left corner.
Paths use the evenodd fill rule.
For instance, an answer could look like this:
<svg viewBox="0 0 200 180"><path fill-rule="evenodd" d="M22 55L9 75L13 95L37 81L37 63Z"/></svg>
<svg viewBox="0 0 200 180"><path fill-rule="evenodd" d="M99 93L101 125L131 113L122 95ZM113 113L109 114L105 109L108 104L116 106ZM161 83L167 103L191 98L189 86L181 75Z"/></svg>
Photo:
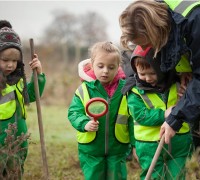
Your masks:
<svg viewBox="0 0 200 180"><path fill-rule="evenodd" d="M0 96L0 120L7 120L13 117L17 109L17 99L21 106L21 116L26 118L26 107L22 91L24 88L23 79L15 85L6 84L6 88L2 90Z"/></svg>

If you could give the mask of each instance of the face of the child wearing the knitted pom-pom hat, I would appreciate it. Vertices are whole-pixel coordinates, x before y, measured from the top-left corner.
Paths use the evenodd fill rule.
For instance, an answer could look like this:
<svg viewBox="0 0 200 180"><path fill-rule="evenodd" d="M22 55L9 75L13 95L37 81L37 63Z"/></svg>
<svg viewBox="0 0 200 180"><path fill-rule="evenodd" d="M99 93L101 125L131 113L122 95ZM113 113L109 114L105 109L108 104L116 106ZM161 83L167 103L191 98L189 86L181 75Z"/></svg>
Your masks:
<svg viewBox="0 0 200 180"><path fill-rule="evenodd" d="M15 71L18 61L20 61L20 51L15 48L5 49L0 53L0 69L5 76Z"/></svg>

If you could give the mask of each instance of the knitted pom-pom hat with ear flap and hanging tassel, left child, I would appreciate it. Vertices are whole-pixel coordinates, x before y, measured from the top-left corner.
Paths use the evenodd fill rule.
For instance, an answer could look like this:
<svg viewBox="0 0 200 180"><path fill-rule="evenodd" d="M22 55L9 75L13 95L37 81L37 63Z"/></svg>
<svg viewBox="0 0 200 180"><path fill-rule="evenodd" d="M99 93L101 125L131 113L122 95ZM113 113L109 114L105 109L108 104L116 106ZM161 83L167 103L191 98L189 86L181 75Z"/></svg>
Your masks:
<svg viewBox="0 0 200 180"><path fill-rule="evenodd" d="M8 48L18 49L21 54L21 61L17 62L16 70L6 77L6 83L9 85L14 85L19 81L20 78L23 78L24 89L22 94L25 100L25 104L29 104L22 56L22 46L19 35L12 29L10 22L6 20L0 20L0 52Z"/></svg>

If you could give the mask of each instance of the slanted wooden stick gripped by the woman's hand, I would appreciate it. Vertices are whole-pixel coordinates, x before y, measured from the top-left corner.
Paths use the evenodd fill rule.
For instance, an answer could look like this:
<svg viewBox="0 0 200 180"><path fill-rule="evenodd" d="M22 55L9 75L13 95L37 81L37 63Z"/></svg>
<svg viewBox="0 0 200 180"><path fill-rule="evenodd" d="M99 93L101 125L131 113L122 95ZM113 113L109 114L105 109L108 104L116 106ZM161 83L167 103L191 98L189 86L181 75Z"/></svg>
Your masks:
<svg viewBox="0 0 200 180"><path fill-rule="evenodd" d="M145 177L145 180L149 180L149 179L151 178L151 174L152 174L153 169L154 169L154 167L155 167L155 165L156 165L156 162L157 162L157 160L158 160L158 157L160 156L160 153L161 153L161 150L162 150L162 148L163 148L164 143L165 143L165 136L164 136L164 134L163 134L163 136L162 136L162 138L161 138L161 140L160 140L160 142L159 142L159 144L158 144L158 147L157 147L157 149L156 149L156 152L155 152L155 154L154 154L154 157L153 157L153 159L152 159L152 162L151 162L151 165L150 165L149 170L148 170L148 172L147 172L147 175L146 175L146 177Z"/></svg>

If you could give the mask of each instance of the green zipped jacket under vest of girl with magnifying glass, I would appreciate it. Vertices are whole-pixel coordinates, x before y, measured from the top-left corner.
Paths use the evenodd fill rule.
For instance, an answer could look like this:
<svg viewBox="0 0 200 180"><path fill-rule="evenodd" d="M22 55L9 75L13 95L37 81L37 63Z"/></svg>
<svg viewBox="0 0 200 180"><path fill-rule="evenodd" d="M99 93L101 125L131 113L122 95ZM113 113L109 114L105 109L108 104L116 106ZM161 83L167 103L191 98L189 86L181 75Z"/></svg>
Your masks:
<svg viewBox="0 0 200 180"><path fill-rule="evenodd" d="M126 153L129 148L129 143L120 143L115 137L115 122L118 114L118 108L123 97L121 89L124 86L125 81L122 79L119 80L118 87L111 98L107 95L107 92L98 80L91 82L85 81L84 83L87 85L90 98L101 97L107 100L108 113L98 119L99 128L96 138L88 144L79 143L79 150L93 156ZM68 119L72 126L79 132L85 132L84 127L88 121L90 121L88 116L85 114L85 107L82 104L81 99L76 94L74 95L68 109ZM131 144L134 145L133 121L131 116L129 116L128 119L128 130L131 132L129 133Z"/></svg>

